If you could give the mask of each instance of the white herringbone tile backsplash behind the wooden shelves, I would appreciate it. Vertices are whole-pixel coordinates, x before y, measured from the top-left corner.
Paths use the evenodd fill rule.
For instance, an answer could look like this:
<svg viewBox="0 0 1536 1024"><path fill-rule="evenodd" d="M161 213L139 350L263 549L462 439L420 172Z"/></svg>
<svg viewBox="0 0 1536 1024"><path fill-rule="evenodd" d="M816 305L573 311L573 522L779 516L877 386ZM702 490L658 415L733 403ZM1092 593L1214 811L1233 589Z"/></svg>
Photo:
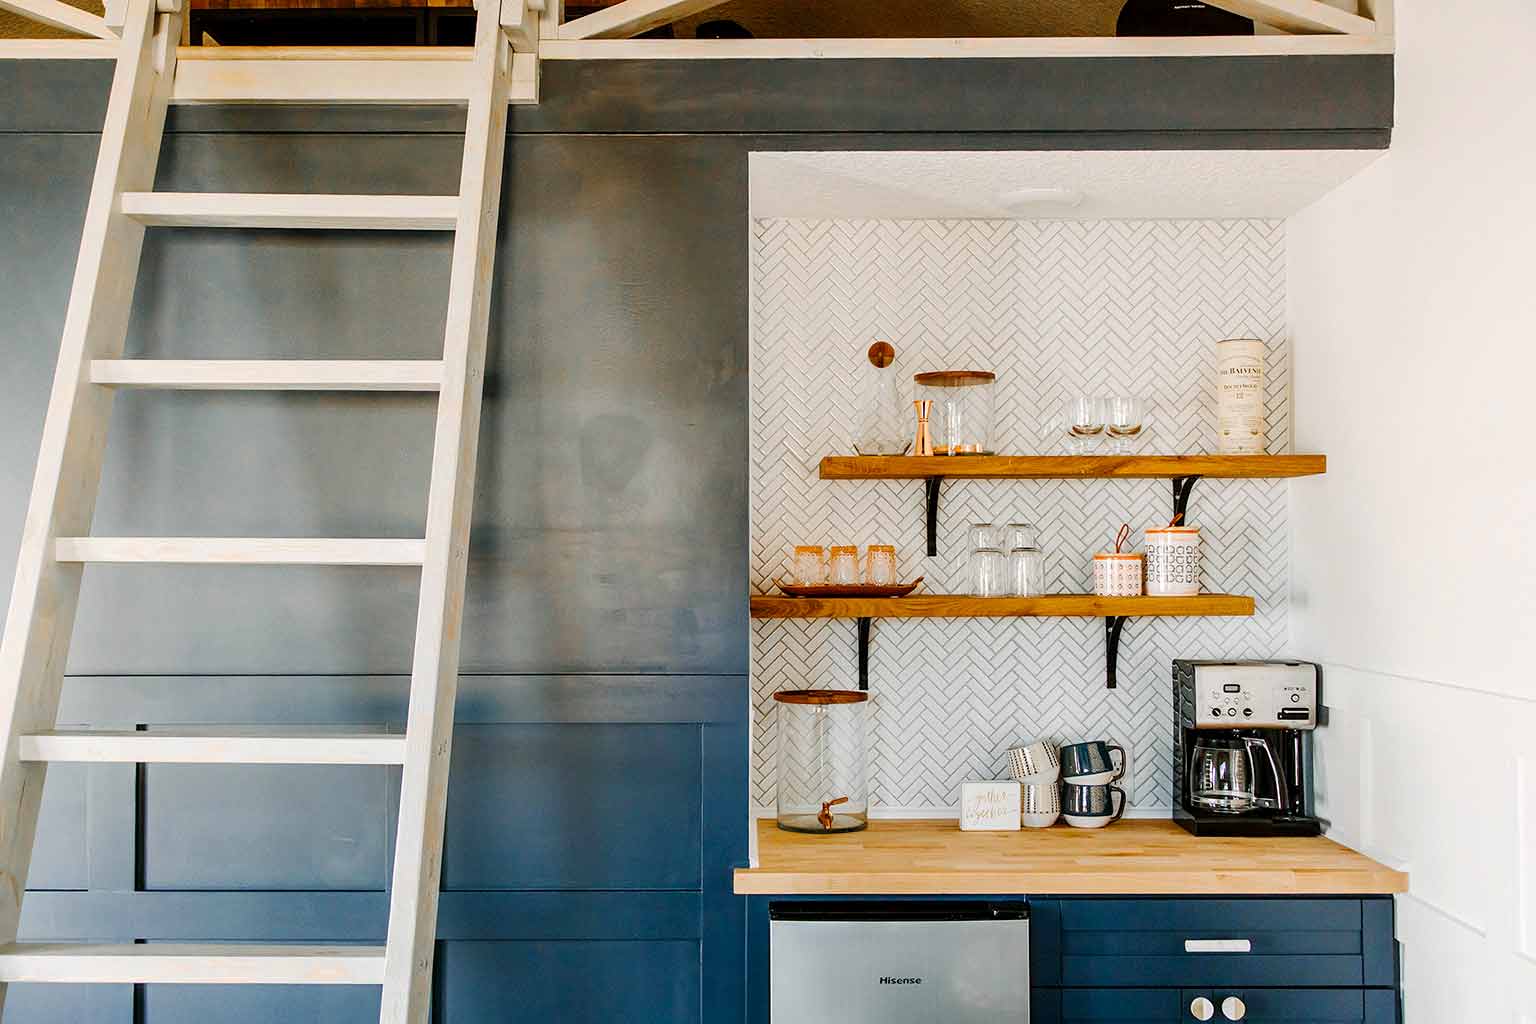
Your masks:
<svg viewBox="0 0 1536 1024"><path fill-rule="evenodd" d="M754 224L753 586L770 593L794 543L895 543L903 579L965 588L966 525L1041 530L1048 588L1092 590L1115 527L1167 522L1166 481L946 482L938 557L925 557L919 481L820 481L851 453L869 342L922 370L997 372L1001 453L1055 453L1044 421L1074 393L1140 393L1146 451L1213 438L1213 344L1269 342L1269 450L1290 444L1281 221L788 221ZM1252 619L1134 619L1120 688L1104 689L1103 620L876 620L869 659L871 809L942 812L968 778L1003 772L1037 737L1130 749L1132 806L1169 806L1175 657L1273 657L1286 643L1286 484L1201 481L1204 586L1252 594ZM1138 533L1140 536L1140 533ZM753 800L773 806L776 689L857 685L854 623L753 623Z"/></svg>

